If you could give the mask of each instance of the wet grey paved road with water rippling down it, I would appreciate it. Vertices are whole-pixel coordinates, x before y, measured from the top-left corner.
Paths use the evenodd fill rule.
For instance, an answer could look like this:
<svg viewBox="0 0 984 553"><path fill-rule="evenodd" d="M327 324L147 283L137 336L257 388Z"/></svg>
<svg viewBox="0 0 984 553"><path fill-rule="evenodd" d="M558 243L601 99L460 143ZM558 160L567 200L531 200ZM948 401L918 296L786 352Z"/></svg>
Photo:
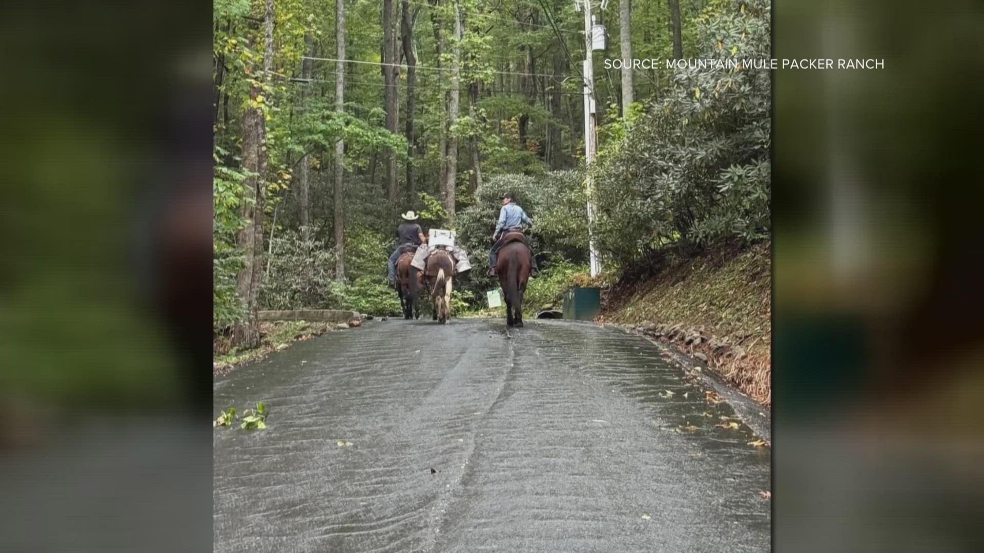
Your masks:
<svg viewBox="0 0 984 553"><path fill-rule="evenodd" d="M215 382L216 412L271 409L215 429L215 551L768 551L769 450L681 376L563 321L295 343Z"/></svg>

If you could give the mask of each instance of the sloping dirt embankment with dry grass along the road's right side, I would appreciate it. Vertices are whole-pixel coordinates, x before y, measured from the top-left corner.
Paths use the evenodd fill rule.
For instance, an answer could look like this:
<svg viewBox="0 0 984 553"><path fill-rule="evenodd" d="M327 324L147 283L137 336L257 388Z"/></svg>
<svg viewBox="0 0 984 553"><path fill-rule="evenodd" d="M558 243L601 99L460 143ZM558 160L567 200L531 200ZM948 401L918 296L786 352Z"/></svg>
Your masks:
<svg viewBox="0 0 984 553"><path fill-rule="evenodd" d="M764 405L771 402L769 243L719 248L603 294L599 321L634 327L707 361Z"/></svg>

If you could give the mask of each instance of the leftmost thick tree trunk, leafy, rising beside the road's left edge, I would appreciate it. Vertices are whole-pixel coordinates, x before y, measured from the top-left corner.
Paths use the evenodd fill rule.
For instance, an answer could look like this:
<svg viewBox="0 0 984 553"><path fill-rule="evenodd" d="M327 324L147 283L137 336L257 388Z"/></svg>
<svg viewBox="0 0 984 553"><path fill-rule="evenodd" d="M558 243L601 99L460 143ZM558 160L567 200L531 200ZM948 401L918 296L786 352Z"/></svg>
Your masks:
<svg viewBox="0 0 984 553"><path fill-rule="evenodd" d="M250 171L244 182L242 215L246 219L236 235L236 246L243 253L243 268L236 276L236 293L245 310L245 320L232 330L238 347L255 347L260 340L256 298L263 276L263 206L267 178L267 129L263 111L256 105L269 82L274 65L274 0L266 0L264 15L263 74L250 88L250 107L243 113L243 168Z"/></svg>

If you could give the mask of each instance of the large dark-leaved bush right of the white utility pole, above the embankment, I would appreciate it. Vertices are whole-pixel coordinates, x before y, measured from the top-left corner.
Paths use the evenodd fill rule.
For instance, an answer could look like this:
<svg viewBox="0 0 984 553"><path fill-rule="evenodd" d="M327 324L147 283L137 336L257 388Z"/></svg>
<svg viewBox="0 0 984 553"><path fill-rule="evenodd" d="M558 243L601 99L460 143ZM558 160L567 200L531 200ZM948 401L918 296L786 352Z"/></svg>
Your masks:
<svg viewBox="0 0 984 553"><path fill-rule="evenodd" d="M703 59L769 57L769 3L715 3L695 21ZM622 268L667 247L769 233L768 71L674 70L672 87L599 152L598 243Z"/></svg>

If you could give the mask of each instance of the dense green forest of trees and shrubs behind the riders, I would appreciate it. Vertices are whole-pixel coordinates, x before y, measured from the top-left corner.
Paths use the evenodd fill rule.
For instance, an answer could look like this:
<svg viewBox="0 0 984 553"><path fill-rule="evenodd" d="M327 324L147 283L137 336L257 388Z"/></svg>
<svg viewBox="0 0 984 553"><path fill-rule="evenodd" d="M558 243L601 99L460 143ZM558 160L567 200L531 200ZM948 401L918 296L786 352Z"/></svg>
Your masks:
<svg viewBox="0 0 984 553"><path fill-rule="evenodd" d="M398 312L386 260L407 210L459 232L476 270L456 307L480 307L506 189L534 221L535 306L584 278L588 175L609 274L768 235L769 73L601 63L768 58L768 2L592 3L609 39L590 167L572 0L214 6L214 330L239 346L259 309Z"/></svg>

